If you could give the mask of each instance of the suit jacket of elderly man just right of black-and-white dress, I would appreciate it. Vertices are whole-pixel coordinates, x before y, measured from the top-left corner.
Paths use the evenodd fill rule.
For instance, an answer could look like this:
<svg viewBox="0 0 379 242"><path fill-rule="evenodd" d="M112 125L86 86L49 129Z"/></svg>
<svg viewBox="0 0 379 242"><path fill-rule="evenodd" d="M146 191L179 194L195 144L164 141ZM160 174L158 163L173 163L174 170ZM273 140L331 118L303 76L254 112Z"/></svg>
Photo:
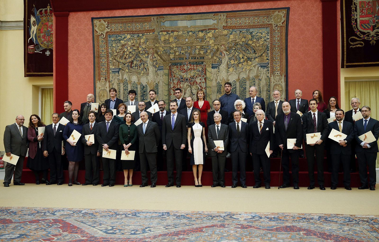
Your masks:
<svg viewBox="0 0 379 242"><path fill-rule="evenodd" d="M226 114L228 113L226 112ZM214 151L214 149L216 148L216 145L213 140L224 140L224 151L222 151L222 153L219 155L226 156L228 153L227 147L229 144L229 126L227 126L226 124L220 123L220 133L218 137L217 137L217 131L216 131L216 124L211 124L210 126L208 126L208 141L209 141L209 148L210 148L208 149L208 154L210 156L216 156L216 154L218 154L216 151Z"/></svg>

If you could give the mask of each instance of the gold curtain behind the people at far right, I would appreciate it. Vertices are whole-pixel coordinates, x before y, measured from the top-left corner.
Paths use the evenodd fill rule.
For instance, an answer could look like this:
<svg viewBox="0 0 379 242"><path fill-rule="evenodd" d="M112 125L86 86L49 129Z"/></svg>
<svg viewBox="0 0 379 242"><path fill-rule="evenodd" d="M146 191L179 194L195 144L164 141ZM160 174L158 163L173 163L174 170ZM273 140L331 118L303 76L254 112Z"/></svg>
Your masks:
<svg viewBox="0 0 379 242"><path fill-rule="evenodd" d="M345 82L345 104L346 111L351 109L350 101L353 97L358 97L360 100L360 108L368 106L371 108L371 118L378 120L379 113L379 80L377 81L356 81ZM376 159L376 168L379 168L379 156Z"/></svg>

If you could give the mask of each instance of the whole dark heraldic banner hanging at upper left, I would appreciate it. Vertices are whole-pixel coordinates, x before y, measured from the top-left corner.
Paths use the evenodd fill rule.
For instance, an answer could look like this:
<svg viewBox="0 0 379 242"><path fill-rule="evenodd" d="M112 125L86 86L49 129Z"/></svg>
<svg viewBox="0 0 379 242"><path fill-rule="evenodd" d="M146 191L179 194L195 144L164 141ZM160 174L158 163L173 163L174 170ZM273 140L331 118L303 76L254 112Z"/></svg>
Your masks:
<svg viewBox="0 0 379 242"><path fill-rule="evenodd" d="M53 9L50 0L24 0L25 77L53 75Z"/></svg>

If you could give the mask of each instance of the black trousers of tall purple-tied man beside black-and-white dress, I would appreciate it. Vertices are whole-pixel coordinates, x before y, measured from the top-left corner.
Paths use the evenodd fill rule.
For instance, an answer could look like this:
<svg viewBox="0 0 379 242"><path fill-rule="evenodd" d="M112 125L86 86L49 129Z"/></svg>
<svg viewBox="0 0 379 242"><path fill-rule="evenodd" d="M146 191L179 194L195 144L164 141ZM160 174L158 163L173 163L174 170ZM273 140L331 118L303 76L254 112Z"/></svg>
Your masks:
<svg viewBox="0 0 379 242"><path fill-rule="evenodd" d="M174 160L176 166L176 184L180 184L182 181L182 162L183 162L183 150L175 149L174 143L171 141L170 148L166 150L166 162L167 162L167 178L168 183L174 184Z"/></svg>

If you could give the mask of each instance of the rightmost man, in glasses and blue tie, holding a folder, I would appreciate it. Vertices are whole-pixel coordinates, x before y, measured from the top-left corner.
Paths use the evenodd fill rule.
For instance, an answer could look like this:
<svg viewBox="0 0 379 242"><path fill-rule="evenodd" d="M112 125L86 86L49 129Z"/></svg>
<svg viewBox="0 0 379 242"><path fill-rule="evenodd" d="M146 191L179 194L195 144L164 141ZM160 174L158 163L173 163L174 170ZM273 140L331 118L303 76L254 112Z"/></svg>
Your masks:
<svg viewBox="0 0 379 242"><path fill-rule="evenodd" d="M379 122L376 119L370 117L371 108L368 106L363 106L361 109L363 119L359 119L354 123L354 137L357 141L356 152L358 159L359 177L362 186L358 189L368 189L370 185L370 190L375 190L376 184L376 171L375 163L378 150L377 140L379 137ZM367 143L364 139L360 139L359 136L366 134L371 131L375 137L375 141ZM370 184L367 180L367 168L370 176Z"/></svg>

